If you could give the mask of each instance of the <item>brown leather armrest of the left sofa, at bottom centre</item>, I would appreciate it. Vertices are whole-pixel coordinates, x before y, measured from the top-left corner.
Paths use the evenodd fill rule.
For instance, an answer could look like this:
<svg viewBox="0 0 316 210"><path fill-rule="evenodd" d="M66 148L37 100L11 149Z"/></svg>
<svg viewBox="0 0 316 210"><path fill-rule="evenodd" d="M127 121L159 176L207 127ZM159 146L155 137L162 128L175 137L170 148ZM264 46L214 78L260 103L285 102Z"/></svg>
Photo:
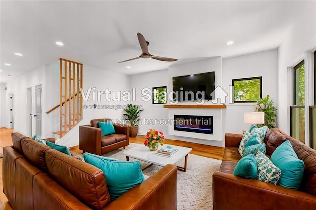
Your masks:
<svg viewBox="0 0 316 210"><path fill-rule="evenodd" d="M175 165L166 165L112 201L104 210L176 210L177 173Z"/></svg>

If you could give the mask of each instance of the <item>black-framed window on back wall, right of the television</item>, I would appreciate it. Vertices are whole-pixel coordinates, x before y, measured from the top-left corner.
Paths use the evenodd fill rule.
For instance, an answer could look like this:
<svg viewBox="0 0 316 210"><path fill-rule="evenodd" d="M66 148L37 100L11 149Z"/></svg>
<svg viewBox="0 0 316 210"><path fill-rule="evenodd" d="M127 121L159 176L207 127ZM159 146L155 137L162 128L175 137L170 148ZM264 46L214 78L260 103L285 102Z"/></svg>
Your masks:
<svg viewBox="0 0 316 210"><path fill-rule="evenodd" d="M233 79L234 102L257 102L262 98L262 77Z"/></svg>

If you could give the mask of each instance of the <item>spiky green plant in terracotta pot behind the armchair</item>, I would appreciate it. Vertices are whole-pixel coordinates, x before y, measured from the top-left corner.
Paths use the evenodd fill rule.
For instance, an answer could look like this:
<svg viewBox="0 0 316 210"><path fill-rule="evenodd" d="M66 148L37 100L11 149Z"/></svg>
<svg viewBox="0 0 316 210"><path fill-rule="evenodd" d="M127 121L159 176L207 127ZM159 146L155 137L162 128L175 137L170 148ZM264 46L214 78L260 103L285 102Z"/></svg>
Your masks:
<svg viewBox="0 0 316 210"><path fill-rule="evenodd" d="M138 133L138 121L139 121L139 113L141 111L144 111L144 109L138 109L137 105L128 104L127 108L124 109L126 114L125 120L128 120L129 122L129 136L130 137L136 137Z"/></svg>

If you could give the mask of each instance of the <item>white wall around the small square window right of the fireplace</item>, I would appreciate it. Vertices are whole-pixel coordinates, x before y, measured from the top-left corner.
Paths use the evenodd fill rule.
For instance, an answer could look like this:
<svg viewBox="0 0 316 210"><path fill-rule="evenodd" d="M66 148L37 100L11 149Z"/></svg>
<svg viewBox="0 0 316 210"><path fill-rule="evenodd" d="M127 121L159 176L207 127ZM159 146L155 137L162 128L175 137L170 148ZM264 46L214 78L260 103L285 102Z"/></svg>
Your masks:
<svg viewBox="0 0 316 210"><path fill-rule="evenodd" d="M223 59L223 89L228 93L232 79L262 76L262 97L270 95L277 107L277 49ZM256 103L227 103L225 132L242 133L250 125L243 121L244 112L254 111Z"/></svg>

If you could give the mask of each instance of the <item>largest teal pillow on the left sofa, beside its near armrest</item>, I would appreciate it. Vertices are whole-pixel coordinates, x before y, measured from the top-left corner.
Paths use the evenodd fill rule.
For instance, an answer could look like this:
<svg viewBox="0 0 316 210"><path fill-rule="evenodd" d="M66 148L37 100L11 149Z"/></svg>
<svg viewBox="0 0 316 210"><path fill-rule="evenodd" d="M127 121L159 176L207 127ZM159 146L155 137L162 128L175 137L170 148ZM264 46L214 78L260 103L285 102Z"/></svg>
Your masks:
<svg viewBox="0 0 316 210"><path fill-rule="evenodd" d="M145 180L139 161L118 161L91 154L83 157L104 172L111 201Z"/></svg>

